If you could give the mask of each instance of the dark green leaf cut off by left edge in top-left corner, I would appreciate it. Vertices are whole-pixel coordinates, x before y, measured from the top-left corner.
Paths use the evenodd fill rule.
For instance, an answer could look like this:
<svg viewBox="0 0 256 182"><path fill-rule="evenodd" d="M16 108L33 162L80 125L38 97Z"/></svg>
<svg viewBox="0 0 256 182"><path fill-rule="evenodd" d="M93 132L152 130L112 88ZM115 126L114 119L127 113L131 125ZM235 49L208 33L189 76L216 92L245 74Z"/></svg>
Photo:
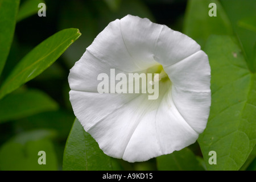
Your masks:
<svg viewBox="0 0 256 182"><path fill-rule="evenodd" d="M0 75L13 42L19 0L0 0Z"/></svg>

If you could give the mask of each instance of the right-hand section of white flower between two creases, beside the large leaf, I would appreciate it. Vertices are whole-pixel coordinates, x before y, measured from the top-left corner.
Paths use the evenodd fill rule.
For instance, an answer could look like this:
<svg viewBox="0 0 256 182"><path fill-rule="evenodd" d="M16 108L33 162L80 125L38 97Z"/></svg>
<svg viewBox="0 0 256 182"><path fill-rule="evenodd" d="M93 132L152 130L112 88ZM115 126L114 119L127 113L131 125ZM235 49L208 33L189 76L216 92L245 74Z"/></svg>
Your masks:
<svg viewBox="0 0 256 182"><path fill-rule="evenodd" d="M164 71L172 81L174 104L185 121L197 133L207 125L210 109L210 65L203 51L168 67Z"/></svg>

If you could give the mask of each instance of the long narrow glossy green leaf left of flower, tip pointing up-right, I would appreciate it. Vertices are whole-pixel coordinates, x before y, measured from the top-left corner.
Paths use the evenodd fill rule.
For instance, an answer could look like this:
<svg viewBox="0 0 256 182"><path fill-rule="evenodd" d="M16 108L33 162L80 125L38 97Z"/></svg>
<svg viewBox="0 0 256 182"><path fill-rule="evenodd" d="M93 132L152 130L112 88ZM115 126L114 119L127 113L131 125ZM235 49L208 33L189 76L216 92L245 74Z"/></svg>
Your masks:
<svg viewBox="0 0 256 182"><path fill-rule="evenodd" d="M3 82L0 98L32 80L47 69L76 39L80 32L69 28L57 32L30 51Z"/></svg>

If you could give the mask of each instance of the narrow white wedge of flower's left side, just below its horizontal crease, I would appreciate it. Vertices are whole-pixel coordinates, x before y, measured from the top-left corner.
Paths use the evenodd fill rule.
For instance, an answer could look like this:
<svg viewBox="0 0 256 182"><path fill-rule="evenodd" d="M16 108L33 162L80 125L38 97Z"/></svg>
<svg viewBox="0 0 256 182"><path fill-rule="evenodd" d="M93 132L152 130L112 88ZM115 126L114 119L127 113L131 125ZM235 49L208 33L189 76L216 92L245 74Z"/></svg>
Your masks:
<svg viewBox="0 0 256 182"><path fill-rule="evenodd" d="M114 113L126 103L129 103L139 94L101 94L98 92L81 92L71 90L69 100L74 113L84 126L85 131ZM106 120L106 119L105 119ZM108 122L108 121L106 121Z"/></svg>

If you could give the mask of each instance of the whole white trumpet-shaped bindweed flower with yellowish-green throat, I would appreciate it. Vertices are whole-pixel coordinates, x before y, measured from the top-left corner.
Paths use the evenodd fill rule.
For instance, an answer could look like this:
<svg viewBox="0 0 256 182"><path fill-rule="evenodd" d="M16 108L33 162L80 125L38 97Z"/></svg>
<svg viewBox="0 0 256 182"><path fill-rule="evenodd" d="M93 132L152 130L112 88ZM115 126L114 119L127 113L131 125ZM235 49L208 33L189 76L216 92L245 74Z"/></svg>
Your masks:
<svg viewBox="0 0 256 182"><path fill-rule="evenodd" d="M109 76L104 79L110 88L104 88L102 73ZM158 96L118 92L117 87L131 82L117 86L130 73L151 73L144 85L146 90L158 86ZM170 154L194 143L207 125L208 56L188 36L146 18L127 15L110 22L71 69L68 81L76 117L114 158L142 162ZM109 92L98 92L99 85Z"/></svg>

